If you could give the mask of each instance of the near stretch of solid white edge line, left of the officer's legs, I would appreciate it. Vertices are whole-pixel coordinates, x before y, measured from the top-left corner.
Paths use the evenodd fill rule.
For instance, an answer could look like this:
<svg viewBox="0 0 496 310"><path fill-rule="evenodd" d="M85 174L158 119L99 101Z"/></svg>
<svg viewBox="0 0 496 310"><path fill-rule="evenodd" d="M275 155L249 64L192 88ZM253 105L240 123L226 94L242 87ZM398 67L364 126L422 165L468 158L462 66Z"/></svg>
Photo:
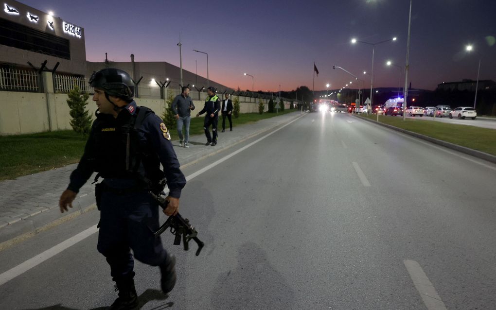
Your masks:
<svg viewBox="0 0 496 310"><path fill-rule="evenodd" d="M19 265L5 271L4 273L0 274L0 285L3 285L4 283L12 280L13 278L17 277L18 275L23 274L24 272L28 271L29 269L41 264L45 260L49 259L52 256L57 255L58 253L62 252L64 249L69 248L72 245L75 245L76 243L80 242L81 240L86 239L87 237L93 235L94 233L98 232L98 229L96 228L96 225L86 229L85 231L80 232L79 234L75 235L74 237L71 237L60 244L56 245L53 248L49 248L46 251L34 256L33 258L30 258L26 260L23 263L20 263Z"/></svg>

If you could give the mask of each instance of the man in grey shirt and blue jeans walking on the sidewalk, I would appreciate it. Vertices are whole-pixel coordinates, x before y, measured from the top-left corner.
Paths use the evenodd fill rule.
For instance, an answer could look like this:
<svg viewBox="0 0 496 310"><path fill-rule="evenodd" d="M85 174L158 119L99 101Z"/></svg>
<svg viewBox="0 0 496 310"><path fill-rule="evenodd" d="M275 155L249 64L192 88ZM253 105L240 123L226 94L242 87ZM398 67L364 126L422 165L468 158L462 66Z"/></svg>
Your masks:
<svg viewBox="0 0 496 310"><path fill-rule="evenodd" d="M172 112L176 115L178 123L178 136L182 147L189 148L189 123L191 121L191 110L194 110L194 104L189 97L189 87L181 88L181 95L177 95L172 102ZM185 126L185 136L183 139L183 124Z"/></svg>

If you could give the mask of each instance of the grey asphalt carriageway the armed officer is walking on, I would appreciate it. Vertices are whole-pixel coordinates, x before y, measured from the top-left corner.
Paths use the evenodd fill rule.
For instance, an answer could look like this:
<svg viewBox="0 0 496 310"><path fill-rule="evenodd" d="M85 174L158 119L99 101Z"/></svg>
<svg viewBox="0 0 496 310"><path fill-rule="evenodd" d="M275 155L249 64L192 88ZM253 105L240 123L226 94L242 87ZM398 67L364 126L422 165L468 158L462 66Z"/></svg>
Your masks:
<svg viewBox="0 0 496 310"><path fill-rule="evenodd" d="M158 268L136 263L139 309L496 305L494 164L348 114L310 113L184 172L181 213L206 246L194 256L194 244L184 251L165 233L178 284L166 299ZM92 211L0 252L0 309L110 305L97 221Z"/></svg>

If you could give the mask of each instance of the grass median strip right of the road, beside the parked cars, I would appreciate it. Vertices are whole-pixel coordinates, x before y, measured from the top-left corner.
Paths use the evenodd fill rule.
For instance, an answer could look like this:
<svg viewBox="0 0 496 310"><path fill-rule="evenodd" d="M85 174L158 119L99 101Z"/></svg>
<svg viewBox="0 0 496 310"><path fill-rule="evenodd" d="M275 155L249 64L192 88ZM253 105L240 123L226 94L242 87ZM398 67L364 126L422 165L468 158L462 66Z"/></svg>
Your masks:
<svg viewBox="0 0 496 310"><path fill-rule="evenodd" d="M376 115L361 114L360 117L376 120ZM472 122L471 120L467 122ZM475 121L477 122L477 121ZM420 133L434 139L468 147L496 156L496 129L471 125L446 124L425 121L422 118L406 119L379 115L379 123Z"/></svg>

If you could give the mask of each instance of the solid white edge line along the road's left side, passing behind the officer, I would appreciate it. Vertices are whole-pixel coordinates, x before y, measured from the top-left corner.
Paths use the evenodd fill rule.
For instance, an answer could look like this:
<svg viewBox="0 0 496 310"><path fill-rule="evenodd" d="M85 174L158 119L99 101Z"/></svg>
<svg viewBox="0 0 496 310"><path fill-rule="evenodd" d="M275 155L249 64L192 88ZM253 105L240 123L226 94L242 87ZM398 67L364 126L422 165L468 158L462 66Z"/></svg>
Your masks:
<svg viewBox="0 0 496 310"><path fill-rule="evenodd" d="M205 168L202 168L202 169L198 170L197 172L187 176L186 181L189 181L189 180L201 175L202 173L206 172L207 170L212 169L213 167L228 160L229 158L233 157L234 155L246 150L248 147L252 146L253 144L260 142L261 140L265 139L269 135L281 130L282 128L286 127L287 125L289 125L289 124L291 124L291 123L293 123L299 119L300 119L300 117L297 119L294 119L293 121L289 122L288 124L285 124L285 125L277 128L276 130L274 130L270 133L267 133L263 137L256 139L255 141L240 148L239 150L237 150L237 151L219 159L218 161L206 166ZM28 260L26 260L25 262L20 263L19 265L3 272L2 274L0 274L0 286L5 284L6 282L12 280L13 278L17 277L18 275L23 274L24 272L28 271L29 269L39 265L40 263L44 262L45 260L49 259L50 257L57 255L58 253L62 252L64 249L69 248L70 246L73 246L76 243L88 238L89 236L93 235L96 232L98 232L98 229L96 228L96 225L94 225L94 226L86 229L85 231L75 235L74 237L71 237L71 238L63 241L62 243L56 245L55 247L49 248L48 250L46 250L46 251L28 259Z"/></svg>

